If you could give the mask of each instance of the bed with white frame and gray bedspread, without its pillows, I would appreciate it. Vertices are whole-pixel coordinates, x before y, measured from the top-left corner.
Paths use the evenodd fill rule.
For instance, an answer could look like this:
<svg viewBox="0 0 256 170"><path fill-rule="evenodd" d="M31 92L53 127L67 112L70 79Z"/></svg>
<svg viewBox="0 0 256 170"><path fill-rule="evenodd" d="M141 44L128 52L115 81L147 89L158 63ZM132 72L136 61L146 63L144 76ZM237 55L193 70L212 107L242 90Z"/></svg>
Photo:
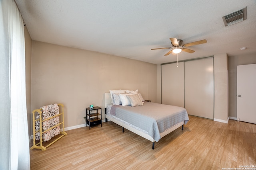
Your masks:
<svg viewBox="0 0 256 170"><path fill-rule="evenodd" d="M106 122L110 120L120 125L123 132L125 128L148 139L152 142L152 149L155 142L175 129L182 126L183 130L184 124L189 120L188 113L183 107L153 102L144 102L136 107L113 105L112 95L113 93L104 94Z"/></svg>

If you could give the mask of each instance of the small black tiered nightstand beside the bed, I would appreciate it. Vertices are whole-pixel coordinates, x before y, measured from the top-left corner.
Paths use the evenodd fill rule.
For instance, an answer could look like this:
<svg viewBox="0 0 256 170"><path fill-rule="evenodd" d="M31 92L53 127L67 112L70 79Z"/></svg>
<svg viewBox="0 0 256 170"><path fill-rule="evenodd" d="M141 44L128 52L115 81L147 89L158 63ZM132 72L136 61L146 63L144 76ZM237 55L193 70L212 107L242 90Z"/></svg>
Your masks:
<svg viewBox="0 0 256 170"><path fill-rule="evenodd" d="M102 126L101 113L101 107L94 106L92 109L90 109L90 107L86 108L86 117L84 117L84 119L86 121L86 126L89 125L89 129L91 129L91 126L95 125Z"/></svg>

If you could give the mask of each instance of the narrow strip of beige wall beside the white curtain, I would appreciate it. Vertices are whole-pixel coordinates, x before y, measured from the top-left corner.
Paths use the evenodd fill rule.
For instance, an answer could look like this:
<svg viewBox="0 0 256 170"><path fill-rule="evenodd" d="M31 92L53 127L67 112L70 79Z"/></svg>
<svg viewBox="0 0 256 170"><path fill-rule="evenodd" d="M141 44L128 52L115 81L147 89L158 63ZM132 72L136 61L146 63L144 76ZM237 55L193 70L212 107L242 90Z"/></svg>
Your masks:
<svg viewBox="0 0 256 170"><path fill-rule="evenodd" d="M28 29L24 27L25 35L25 61L26 61L26 104L27 104L27 116L28 116L28 135L32 135L31 127L31 47L32 40L28 33Z"/></svg>

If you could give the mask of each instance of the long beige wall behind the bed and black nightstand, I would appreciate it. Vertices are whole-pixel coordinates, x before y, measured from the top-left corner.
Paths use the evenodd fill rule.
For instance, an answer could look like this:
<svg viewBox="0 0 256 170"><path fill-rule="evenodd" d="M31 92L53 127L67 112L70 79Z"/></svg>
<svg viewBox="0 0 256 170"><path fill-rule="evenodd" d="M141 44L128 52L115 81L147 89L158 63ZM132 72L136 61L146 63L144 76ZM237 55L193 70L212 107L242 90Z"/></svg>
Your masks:
<svg viewBox="0 0 256 170"><path fill-rule="evenodd" d="M156 102L156 64L39 41L32 41L31 63L32 110L64 104L65 127L84 125L85 108L103 108L109 90L138 89Z"/></svg>

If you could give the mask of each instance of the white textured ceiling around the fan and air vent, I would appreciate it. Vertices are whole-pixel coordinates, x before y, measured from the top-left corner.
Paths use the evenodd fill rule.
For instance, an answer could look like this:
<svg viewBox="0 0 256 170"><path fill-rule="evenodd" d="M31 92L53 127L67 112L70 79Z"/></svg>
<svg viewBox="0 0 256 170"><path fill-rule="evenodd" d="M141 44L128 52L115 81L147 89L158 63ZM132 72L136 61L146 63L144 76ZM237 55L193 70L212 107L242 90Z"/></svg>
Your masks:
<svg viewBox="0 0 256 170"><path fill-rule="evenodd" d="M33 40L160 64L170 37L190 43L179 60L256 53L256 0L15 0ZM247 20L224 26L222 16L247 7ZM240 50L247 47L246 50Z"/></svg>

